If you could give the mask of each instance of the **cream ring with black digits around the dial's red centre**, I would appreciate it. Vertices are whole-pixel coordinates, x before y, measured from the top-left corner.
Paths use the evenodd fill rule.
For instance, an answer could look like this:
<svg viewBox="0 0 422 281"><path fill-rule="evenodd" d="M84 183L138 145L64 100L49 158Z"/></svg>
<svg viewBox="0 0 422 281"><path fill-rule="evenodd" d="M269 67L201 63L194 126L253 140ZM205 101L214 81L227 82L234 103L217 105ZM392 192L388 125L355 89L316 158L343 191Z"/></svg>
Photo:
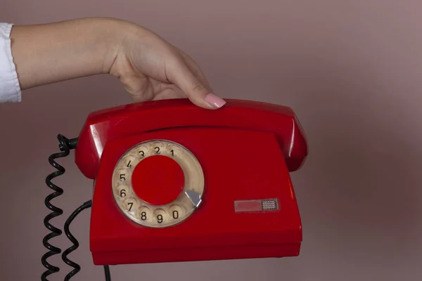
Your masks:
<svg viewBox="0 0 422 281"><path fill-rule="evenodd" d="M184 173L184 188L169 204L148 204L134 192L132 174L136 165L154 155L174 159ZM193 214L203 196L204 176L198 159L182 145L152 140L139 143L122 155L113 171L112 187L115 202L124 215L143 226L162 228L181 223Z"/></svg>

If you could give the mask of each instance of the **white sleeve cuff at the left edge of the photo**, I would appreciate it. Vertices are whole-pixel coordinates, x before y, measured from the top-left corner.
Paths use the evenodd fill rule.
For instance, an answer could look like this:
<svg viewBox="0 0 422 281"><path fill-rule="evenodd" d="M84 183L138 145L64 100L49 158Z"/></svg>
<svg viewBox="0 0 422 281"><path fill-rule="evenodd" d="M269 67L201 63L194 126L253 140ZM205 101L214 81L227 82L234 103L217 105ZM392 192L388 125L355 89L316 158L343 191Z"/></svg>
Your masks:
<svg viewBox="0 0 422 281"><path fill-rule="evenodd" d="M22 98L12 57L12 26L12 23L0 22L0 103L19 103Z"/></svg>

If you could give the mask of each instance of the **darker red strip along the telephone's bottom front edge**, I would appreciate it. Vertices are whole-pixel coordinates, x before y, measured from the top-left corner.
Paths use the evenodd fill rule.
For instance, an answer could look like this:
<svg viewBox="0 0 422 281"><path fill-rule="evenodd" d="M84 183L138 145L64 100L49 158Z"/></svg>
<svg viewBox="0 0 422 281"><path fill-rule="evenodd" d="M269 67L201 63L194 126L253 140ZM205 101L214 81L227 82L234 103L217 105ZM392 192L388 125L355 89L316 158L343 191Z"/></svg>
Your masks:
<svg viewBox="0 0 422 281"><path fill-rule="evenodd" d="M233 247L200 247L193 249L151 249L142 251L107 251L92 253L96 266L134 263L170 263L262 259L299 256L300 243L243 245Z"/></svg>

